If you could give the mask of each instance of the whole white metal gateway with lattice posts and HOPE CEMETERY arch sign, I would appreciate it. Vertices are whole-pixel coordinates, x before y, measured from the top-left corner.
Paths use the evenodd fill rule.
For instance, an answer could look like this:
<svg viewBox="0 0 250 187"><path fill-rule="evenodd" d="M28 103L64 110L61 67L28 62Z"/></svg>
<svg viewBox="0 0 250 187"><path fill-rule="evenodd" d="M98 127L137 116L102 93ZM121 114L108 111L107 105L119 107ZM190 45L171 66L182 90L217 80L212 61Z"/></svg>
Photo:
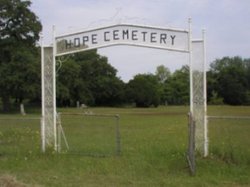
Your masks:
<svg viewBox="0 0 250 187"><path fill-rule="evenodd" d="M112 45L141 46L189 54L190 113L196 121L196 150L206 156L208 140L205 37L203 32L202 39L192 39L191 19L188 30L118 24L56 36L53 28L53 46L41 47L43 151L47 147L57 150L56 57Z"/></svg>

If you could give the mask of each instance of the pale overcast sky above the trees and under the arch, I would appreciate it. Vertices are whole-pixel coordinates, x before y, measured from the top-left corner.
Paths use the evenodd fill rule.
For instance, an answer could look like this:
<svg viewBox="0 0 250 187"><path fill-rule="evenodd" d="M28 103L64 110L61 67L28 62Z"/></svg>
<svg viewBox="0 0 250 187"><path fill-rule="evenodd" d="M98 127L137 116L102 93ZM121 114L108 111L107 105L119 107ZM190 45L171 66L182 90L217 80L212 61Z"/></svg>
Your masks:
<svg viewBox="0 0 250 187"><path fill-rule="evenodd" d="M194 39L206 29L208 63L224 56L250 58L250 0L32 0L31 9L42 22L46 44L52 25L58 34L116 23L188 29L191 17ZM98 52L124 81L154 73L161 64L172 72L188 64L186 54L164 50L116 46Z"/></svg>

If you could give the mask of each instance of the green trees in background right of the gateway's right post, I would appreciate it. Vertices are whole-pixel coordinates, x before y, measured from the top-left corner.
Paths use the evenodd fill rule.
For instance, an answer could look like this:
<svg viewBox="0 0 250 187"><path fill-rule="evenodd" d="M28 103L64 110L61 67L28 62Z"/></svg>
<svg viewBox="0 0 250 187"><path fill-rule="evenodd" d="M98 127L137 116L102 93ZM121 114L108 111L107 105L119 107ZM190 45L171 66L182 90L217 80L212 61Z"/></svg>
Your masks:
<svg viewBox="0 0 250 187"><path fill-rule="evenodd" d="M225 104L250 104L249 77L250 59L224 57L215 60L208 72L208 101L221 98Z"/></svg>

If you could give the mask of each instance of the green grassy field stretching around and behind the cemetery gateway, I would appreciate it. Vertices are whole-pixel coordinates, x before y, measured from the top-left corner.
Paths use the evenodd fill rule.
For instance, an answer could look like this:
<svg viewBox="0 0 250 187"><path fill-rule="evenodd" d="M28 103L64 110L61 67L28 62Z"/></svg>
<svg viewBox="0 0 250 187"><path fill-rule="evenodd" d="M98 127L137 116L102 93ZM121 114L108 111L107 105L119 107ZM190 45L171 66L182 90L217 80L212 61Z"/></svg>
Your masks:
<svg viewBox="0 0 250 187"><path fill-rule="evenodd" d="M0 186L1 180L16 186L250 186L250 120L210 120L210 155L197 155L196 175L190 176L188 107L90 110L120 115L120 156L114 119L62 116L70 151L42 154L39 114L0 115ZM250 116L250 107L210 106L208 113Z"/></svg>

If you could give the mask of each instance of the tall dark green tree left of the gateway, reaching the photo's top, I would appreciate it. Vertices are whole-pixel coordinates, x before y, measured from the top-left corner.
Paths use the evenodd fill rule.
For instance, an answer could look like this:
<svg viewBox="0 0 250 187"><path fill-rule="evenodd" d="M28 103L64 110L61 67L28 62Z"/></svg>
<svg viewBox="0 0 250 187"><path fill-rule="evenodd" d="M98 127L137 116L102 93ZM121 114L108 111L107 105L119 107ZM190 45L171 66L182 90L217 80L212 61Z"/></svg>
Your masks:
<svg viewBox="0 0 250 187"><path fill-rule="evenodd" d="M35 46L42 26L30 5L30 1L0 1L0 94L4 111L10 110L10 98L22 102L37 90L39 53Z"/></svg>

